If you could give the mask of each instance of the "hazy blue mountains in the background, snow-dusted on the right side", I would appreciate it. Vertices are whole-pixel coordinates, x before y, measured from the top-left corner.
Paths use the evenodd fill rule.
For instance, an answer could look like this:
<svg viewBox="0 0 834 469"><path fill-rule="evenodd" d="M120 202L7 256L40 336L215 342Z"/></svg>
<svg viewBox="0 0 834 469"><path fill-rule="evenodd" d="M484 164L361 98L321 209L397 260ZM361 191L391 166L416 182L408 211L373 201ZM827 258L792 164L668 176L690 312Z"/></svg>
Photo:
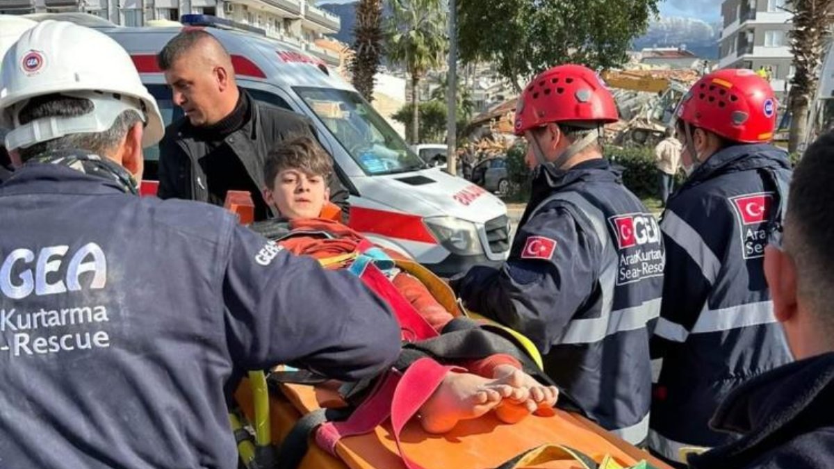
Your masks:
<svg viewBox="0 0 834 469"><path fill-rule="evenodd" d="M342 20L342 29L334 38L344 43L354 42L355 3L320 3ZM389 8L385 7L386 16ZM717 59L721 24L710 24L695 18L659 18L650 23L646 34L636 38L632 48L685 47L700 58Z"/></svg>

